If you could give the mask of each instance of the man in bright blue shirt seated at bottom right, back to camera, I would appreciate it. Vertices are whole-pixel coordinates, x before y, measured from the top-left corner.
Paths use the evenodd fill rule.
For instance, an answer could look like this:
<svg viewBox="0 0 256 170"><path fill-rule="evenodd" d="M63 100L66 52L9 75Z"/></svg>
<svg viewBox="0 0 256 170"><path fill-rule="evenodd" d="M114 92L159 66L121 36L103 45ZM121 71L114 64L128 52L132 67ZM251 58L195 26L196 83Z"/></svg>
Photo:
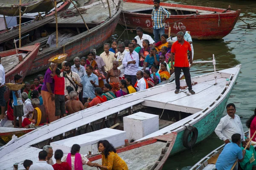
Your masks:
<svg viewBox="0 0 256 170"><path fill-rule="evenodd" d="M216 162L216 169L217 170L230 170L233 164L238 159L239 162L244 160L244 155L246 150L241 150L241 135L239 133L235 133L231 136L232 142L225 145L221 154L218 156ZM238 164L234 170L237 170Z"/></svg>

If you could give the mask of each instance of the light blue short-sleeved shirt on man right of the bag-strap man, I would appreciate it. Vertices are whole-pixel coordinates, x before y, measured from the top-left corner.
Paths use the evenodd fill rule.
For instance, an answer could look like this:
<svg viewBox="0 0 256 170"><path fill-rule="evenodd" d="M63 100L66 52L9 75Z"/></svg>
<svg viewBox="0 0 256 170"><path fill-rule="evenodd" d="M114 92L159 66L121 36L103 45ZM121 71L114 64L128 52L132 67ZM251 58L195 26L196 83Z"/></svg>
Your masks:
<svg viewBox="0 0 256 170"><path fill-rule="evenodd" d="M89 77L87 74L85 74L81 80L81 84L83 85L83 98L90 97L91 99L93 99L94 97L96 97L94 92L95 88L92 83L90 83L90 80L95 82L96 85L99 85L99 79L95 74L92 73Z"/></svg>

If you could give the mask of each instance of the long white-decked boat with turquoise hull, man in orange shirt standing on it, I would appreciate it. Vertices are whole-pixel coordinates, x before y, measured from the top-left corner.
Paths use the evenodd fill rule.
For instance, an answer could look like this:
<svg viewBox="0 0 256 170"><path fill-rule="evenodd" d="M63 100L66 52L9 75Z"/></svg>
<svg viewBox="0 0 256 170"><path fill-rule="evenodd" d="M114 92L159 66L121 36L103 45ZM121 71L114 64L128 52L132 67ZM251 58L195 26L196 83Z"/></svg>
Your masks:
<svg viewBox="0 0 256 170"><path fill-rule="evenodd" d="M116 123L120 124L118 129L122 130L123 116L138 111L158 114L160 120L165 122L160 130L140 140L176 132L177 138L169 154L175 155L187 149L189 144L186 137L191 133L191 128L191 146L206 139L214 131L240 69L241 65L237 65L234 68L217 71L216 74L192 77L192 81L197 82L193 85L194 95L190 95L187 88L175 94L176 85L172 82L112 99L58 119L13 140L12 144L1 147L0 165L3 164L3 169L12 169L14 161L21 165L23 158L36 161L40 148L63 138L111 127ZM226 86L227 78L230 79L229 86ZM185 80L181 80L180 85L185 86Z"/></svg>

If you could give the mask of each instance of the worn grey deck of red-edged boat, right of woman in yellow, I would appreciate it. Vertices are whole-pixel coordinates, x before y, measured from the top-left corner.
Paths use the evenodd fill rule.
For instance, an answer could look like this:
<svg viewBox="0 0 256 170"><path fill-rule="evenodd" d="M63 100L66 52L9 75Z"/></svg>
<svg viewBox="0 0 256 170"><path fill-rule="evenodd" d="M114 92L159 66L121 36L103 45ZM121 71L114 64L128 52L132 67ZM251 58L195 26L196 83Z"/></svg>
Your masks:
<svg viewBox="0 0 256 170"><path fill-rule="evenodd" d="M126 162L129 170L148 170L155 164L162 149L165 147L166 142L158 141L153 144L118 153L118 155ZM102 159L98 159L93 162L102 164ZM83 169L95 170L95 167L88 167L87 165L84 165Z"/></svg>

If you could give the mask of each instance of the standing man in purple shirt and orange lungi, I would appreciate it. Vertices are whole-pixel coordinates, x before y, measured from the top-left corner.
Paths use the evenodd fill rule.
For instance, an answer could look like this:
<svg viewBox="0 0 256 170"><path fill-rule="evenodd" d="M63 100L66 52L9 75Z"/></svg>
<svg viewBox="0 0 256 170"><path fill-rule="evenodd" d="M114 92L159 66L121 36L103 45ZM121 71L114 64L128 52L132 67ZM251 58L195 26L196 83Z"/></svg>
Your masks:
<svg viewBox="0 0 256 170"><path fill-rule="evenodd" d="M56 64L51 62L50 67L47 69L44 75L44 85L41 89L41 95L43 98L44 106L46 109L48 122L57 120L55 116L55 101L54 101L54 79L52 79L52 70Z"/></svg>

